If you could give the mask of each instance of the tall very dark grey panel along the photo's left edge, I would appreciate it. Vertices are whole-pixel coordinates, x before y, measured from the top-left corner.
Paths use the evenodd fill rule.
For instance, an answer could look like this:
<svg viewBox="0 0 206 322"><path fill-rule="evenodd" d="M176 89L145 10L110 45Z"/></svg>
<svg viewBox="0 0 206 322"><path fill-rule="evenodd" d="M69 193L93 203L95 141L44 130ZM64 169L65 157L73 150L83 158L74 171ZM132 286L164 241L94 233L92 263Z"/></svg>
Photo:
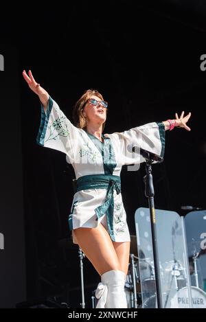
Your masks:
<svg viewBox="0 0 206 322"><path fill-rule="evenodd" d="M0 308L13 308L26 299L19 56L14 45L0 47Z"/></svg>

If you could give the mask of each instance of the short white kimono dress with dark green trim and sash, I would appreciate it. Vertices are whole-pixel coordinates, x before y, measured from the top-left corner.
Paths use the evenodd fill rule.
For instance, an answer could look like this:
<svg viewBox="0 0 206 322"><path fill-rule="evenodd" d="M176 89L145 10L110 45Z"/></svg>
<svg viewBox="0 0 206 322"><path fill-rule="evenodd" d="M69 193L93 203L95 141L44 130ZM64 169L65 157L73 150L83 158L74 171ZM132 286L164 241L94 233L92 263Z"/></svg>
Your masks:
<svg viewBox="0 0 206 322"><path fill-rule="evenodd" d="M122 165L128 165L128 170L138 170L139 163L145 161L139 148L163 157L165 126L162 122L152 122L121 133L102 134L102 138L103 143L73 126L52 97L49 97L46 113L41 105L41 125L36 142L64 152L67 163L73 166L77 183L84 181L84 185L73 195L69 229L97 227L102 222L111 240L128 242L130 233L119 185ZM132 152L133 146L139 147L135 153ZM91 179L99 177L100 185L91 184ZM104 178L109 181L115 179L110 181L109 198L107 185L101 187ZM77 244L74 235L73 243Z"/></svg>

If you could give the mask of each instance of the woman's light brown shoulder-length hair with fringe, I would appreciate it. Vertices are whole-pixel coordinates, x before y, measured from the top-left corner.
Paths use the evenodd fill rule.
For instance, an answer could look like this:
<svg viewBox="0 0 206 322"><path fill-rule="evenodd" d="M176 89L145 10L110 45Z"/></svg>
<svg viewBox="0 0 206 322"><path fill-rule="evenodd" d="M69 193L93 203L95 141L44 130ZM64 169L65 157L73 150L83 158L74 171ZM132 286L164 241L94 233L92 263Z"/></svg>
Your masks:
<svg viewBox="0 0 206 322"><path fill-rule="evenodd" d="M87 101L92 95L99 97L100 100L104 100L102 94L100 94L96 89L87 89L86 91L84 91L82 96L79 98L79 100L76 102L76 104L73 107L73 122L77 128L84 129L87 127L87 119L86 117L84 117L82 111L83 111L84 105L87 103ZM105 122L102 124L102 131L104 130L104 125L105 125Z"/></svg>

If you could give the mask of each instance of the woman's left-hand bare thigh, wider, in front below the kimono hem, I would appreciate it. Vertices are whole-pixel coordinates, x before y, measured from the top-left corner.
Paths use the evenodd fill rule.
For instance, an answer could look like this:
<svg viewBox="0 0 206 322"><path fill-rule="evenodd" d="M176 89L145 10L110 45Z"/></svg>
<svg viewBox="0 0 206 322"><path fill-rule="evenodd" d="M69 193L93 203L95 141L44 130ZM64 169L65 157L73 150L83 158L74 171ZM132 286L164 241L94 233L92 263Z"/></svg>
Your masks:
<svg viewBox="0 0 206 322"><path fill-rule="evenodd" d="M117 247L116 253L113 242L101 223L96 228L74 229L73 234L80 249L82 249L100 275L111 270L122 270L117 256L117 253L119 254L121 250ZM123 246L122 249L127 256L126 247ZM124 266L126 264L122 260L122 267Z"/></svg>

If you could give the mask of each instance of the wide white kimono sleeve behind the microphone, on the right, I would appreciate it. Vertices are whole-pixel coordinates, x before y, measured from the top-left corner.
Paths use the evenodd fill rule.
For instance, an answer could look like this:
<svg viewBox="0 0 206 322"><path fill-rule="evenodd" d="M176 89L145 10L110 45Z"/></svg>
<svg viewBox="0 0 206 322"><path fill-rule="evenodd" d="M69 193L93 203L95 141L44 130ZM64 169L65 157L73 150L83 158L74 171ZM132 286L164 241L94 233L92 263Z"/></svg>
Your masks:
<svg viewBox="0 0 206 322"><path fill-rule="evenodd" d="M113 141L122 158L122 165L141 163L145 159L140 155L139 148L163 157L165 150L165 126L163 122L152 122L126 130L122 133L113 133ZM133 147L135 152L133 152ZM156 163L156 162L155 162Z"/></svg>

